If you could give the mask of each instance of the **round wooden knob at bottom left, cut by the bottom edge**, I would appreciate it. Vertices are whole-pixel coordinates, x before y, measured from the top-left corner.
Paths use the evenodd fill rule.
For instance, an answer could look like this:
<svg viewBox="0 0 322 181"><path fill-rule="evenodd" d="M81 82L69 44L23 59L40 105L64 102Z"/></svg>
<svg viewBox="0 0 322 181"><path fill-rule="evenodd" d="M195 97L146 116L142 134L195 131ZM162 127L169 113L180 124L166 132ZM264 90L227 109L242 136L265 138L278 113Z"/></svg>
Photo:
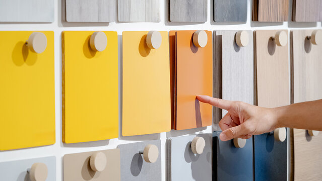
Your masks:
<svg viewBox="0 0 322 181"><path fill-rule="evenodd" d="M45 181L48 176L48 169L45 163L34 163L29 171L31 181Z"/></svg>

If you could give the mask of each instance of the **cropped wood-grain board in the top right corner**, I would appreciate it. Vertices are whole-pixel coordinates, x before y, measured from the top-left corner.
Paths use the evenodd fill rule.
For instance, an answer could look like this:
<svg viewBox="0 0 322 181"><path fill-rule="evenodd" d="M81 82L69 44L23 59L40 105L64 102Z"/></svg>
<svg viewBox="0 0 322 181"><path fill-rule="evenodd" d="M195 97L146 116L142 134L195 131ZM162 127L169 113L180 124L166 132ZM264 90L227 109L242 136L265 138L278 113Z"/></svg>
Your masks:
<svg viewBox="0 0 322 181"><path fill-rule="evenodd" d="M322 21L322 0L293 0L292 21Z"/></svg>

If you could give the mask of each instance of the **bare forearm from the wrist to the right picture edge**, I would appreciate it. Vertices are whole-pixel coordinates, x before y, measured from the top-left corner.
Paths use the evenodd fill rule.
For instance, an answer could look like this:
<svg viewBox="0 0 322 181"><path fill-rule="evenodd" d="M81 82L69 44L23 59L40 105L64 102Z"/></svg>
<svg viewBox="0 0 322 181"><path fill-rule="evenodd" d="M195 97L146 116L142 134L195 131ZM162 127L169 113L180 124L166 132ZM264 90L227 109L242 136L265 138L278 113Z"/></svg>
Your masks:
<svg viewBox="0 0 322 181"><path fill-rule="evenodd" d="M322 131L322 100L274 108L278 127Z"/></svg>

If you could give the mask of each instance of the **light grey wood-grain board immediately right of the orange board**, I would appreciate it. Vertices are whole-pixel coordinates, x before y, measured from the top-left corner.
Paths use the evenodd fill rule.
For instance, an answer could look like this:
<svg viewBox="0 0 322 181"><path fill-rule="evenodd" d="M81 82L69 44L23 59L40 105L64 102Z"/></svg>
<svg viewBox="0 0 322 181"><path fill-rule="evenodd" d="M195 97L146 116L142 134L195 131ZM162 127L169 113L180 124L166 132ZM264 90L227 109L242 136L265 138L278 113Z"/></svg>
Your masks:
<svg viewBox="0 0 322 181"><path fill-rule="evenodd" d="M242 101L254 104L254 61L253 34L248 34L248 45L239 47L236 44L238 31L215 31L214 97L230 101ZM221 94L219 94L221 93ZM218 123L227 111L214 107L214 122Z"/></svg>

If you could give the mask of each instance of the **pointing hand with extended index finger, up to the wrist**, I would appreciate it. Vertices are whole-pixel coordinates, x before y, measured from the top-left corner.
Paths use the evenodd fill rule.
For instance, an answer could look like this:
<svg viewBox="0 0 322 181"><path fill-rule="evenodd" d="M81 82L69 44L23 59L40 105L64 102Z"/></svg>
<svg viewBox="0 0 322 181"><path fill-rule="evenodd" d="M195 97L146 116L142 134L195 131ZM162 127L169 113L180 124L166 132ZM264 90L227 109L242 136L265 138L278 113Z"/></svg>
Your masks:
<svg viewBox="0 0 322 181"><path fill-rule="evenodd" d="M277 116L274 109L253 106L240 101L227 101L209 96L197 96L198 100L228 113L220 120L222 141L233 138L248 139L278 128Z"/></svg>

